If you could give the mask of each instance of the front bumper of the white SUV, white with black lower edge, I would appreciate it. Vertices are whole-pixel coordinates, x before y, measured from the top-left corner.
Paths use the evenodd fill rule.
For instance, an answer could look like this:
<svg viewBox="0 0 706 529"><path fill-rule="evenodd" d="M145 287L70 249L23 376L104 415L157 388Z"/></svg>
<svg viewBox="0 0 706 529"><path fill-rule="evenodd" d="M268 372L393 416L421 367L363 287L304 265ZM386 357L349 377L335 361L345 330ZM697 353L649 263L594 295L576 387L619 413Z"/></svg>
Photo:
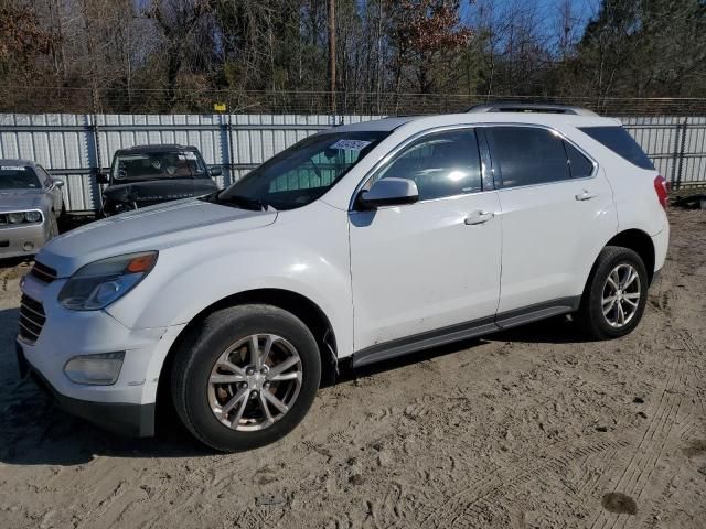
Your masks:
<svg viewBox="0 0 706 529"><path fill-rule="evenodd" d="M46 320L33 343L18 338L20 365L34 373L67 411L120 433L153 434L161 368L184 325L128 328L105 311L68 311L57 302L65 282L44 283L25 276L22 292L42 304ZM115 352L125 352L125 359L113 385L76 384L64 373L75 356Z"/></svg>

